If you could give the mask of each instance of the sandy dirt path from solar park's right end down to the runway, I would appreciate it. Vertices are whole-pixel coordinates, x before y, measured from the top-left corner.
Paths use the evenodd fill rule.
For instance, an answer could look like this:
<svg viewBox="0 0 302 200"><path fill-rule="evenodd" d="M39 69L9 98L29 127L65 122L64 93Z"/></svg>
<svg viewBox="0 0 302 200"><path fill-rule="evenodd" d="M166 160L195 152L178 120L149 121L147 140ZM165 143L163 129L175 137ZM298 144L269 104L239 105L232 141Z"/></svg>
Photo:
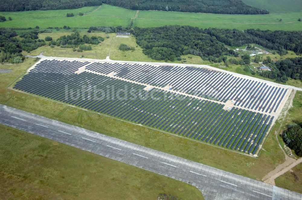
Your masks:
<svg viewBox="0 0 302 200"><path fill-rule="evenodd" d="M293 100L296 95L296 92L297 92L296 90L293 90L293 92L291 93L288 99L288 102L286 102L286 105L284 106L285 108L284 113L280 114L280 116L282 117L282 121L278 131L275 131L275 136L277 141L278 141L278 135L281 133L281 129L283 127L284 121L287 120L288 110L293 106ZM277 177L281 176L282 174L284 174L285 172L287 172L288 170L290 170L291 168L302 162L302 158L296 160L294 158L289 157L286 154L286 152L284 152L284 149L281 146L280 142L278 142L278 145L281 148L282 152L284 153L285 161L284 163L278 165L274 170L270 171L268 174L265 175L265 177L262 178L262 181L264 181L265 183L269 183L271 185L275 185L275 179Z"/></svg>

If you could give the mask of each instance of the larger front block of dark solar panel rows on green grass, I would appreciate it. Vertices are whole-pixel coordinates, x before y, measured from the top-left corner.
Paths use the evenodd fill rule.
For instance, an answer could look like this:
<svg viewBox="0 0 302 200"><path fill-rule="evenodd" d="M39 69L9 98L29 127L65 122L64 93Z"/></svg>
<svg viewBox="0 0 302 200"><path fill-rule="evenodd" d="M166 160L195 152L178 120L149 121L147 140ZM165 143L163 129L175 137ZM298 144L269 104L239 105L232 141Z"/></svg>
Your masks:
<svg viewBox="0 0 302 200"><path fill-rule="evenodd" d="M18 81L14 89L251 154L259 149L274 118L235 107L226 111L223 104L189 96L173 98L175 93L161 89L152 89L155 99L118 99L116 93L104 92L108 86L114 86L116 91L127 88L124 97L139 96L138 89L145 86L86 71L74 73L86 64L91 63L44 60ZM125 75L119 72L119 76ZM83 86L88 89L79 94L77 89ZM130 89L136 90L131 93Z"/></svg>

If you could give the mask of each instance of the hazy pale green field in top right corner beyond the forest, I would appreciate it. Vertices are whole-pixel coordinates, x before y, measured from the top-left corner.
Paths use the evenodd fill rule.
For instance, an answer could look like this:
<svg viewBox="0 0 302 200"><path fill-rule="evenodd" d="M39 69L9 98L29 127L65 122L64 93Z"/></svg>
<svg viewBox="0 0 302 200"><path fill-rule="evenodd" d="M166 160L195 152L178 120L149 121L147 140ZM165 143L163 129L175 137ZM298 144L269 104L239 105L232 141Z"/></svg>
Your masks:
<svg viewBox="0 0 302 200"><path fill-rule="evenodd" d="M289 13L302 11L301 0L242 0L257 8L268 9L270 13Z"/></svg>

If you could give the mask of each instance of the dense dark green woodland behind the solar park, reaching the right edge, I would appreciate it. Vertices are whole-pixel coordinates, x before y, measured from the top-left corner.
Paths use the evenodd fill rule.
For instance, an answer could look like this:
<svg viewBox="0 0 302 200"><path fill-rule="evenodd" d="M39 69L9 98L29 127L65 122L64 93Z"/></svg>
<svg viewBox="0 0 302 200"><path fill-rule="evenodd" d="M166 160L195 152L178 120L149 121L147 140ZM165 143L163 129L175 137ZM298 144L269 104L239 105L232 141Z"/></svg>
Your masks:
<svg viewBox="0 0 302 200"><path fill-rule="evenodd" d="M281 55L286 53L286 50L302 53L302 31L203 30L189 26L165 26L135 27L132 33L137 39L137 44L144 49L143 52L155 60L174 61L181 55L192 54L204 60L221 62L225 61L226 55L238 56L225 45L242 46L248 43L274 49Z"/></svg>

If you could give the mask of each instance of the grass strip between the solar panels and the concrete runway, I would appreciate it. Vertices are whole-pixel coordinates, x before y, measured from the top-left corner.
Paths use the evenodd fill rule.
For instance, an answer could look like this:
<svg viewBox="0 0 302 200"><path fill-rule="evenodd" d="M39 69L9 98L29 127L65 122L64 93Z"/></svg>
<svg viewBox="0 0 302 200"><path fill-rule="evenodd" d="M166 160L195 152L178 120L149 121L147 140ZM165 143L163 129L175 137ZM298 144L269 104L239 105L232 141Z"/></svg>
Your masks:
<svg viewBox="0 0 302 200"><path fill-rule="evenodd" d="M13 69L9 74L0 74L2 80L0 82L1 104L40 114L254 179L261 179L278 164L284 162L284 155L281 149L279 149L278 141L273 134L268 136L259 158L252 158L201 142L176 137L5 88L14 80L19 80L26 69L34 64L34 62L35 59L28 58L22 64L1 65L2 69ZM279 125L280 123L277 121L271 133L278 130Z"/></svg>

